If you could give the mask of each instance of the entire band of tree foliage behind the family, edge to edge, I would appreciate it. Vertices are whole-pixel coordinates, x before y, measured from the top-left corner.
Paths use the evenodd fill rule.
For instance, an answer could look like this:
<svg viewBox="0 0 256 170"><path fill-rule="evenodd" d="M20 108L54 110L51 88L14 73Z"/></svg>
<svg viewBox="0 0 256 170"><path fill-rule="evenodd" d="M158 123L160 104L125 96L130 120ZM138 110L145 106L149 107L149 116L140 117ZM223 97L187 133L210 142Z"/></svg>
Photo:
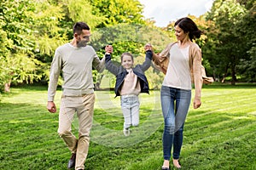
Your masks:
<svg viewBox="0 0 256 170"><path fill-rule="evenodd" d="M206 15L199 18L189 15L206 32L197 43L202 48L203 63L209 75L219 79L232 77L233 82L236 77L256 81L255 7L254 0L216 0ZM104 47L112 44L113 60L117 62L126 51L143 56L145 43L150 42L154 52L159 53L166 44L175 41L173 23L158 28L154 20L144 20L143 5L137 0L3 0L0 6L0 91L9 81L47 82L55 48L73 38L72 27L76 21L89 24L93 34L91 44L100 57ZM158 80L159 73L149 72L152 72L149 77ZM104 74L94 72L98 86ZM149 82L157 87L154 80Z"/></svg>

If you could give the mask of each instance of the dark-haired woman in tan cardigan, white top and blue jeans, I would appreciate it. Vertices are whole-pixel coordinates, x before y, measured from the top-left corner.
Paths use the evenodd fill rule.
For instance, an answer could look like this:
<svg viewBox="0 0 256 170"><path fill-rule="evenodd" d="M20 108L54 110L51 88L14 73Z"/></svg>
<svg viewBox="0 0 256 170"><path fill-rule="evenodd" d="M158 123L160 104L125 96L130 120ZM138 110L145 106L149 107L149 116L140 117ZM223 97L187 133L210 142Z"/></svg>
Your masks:
<svg viewBox="0 0 256 170"><path fill-rule="evenodd" d="M154 64L166 74L160 98L165 121L163 133L163 170L169 170L172 153L174 167L180 168L179 156L183 144L183 126L191 100L191 82L195 83L194 108L201 106L201 49L193 39L201 37L195 22L187 17L174 25L177 42L167 45L154 55ZM166 62L167 61L167 62ZM169 62L170 61L170 62Z"/></svg>

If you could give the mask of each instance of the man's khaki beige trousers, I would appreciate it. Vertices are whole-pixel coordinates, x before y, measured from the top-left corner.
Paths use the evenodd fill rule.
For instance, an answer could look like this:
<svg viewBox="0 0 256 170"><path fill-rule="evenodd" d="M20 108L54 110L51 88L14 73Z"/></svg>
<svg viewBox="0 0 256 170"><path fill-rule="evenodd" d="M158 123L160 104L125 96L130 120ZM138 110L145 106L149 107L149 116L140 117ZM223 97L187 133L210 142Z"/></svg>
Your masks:
<svg viewBox="0 0 256 170"><path fill-rule="evenodd" d="M84 169L84 162L89 150L94 103L95 94L61 97L58 133L67 144L68 149L72 153L76 153L76 170ZM79 139L71 132L75 112L79 119Z"/></svg>

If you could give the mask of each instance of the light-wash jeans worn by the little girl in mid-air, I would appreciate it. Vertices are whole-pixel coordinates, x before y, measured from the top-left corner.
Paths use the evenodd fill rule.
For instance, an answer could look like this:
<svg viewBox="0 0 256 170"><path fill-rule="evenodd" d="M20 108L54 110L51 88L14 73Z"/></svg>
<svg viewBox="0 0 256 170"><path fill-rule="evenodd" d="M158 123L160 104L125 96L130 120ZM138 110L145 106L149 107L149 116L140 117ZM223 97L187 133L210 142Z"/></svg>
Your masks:
<svg viewBox="0 0 256 170"><path fill-rule="evenodd" d="M124 128L138 126L140 102L137 95L121 96L121 107L125 119Z"/></svg>

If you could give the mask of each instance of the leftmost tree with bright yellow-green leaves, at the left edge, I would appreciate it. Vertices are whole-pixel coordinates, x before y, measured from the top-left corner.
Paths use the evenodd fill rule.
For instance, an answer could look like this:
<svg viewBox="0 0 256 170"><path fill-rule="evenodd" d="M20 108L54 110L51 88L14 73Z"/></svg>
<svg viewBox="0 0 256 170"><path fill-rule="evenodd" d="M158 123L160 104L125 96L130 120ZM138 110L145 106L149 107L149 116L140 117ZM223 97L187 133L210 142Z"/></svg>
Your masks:
<svg viewBox="0 0 256 170"><path fill-rule="evenodd" d="M42 63L34 58L35 47L32 36L34 20L31 14L35 10L29 0L3 1L0 7L1 42L6 45L1 50L1 89L6 85L9 91L10 82L33 82L41 78L36 74Z"/></svg>

